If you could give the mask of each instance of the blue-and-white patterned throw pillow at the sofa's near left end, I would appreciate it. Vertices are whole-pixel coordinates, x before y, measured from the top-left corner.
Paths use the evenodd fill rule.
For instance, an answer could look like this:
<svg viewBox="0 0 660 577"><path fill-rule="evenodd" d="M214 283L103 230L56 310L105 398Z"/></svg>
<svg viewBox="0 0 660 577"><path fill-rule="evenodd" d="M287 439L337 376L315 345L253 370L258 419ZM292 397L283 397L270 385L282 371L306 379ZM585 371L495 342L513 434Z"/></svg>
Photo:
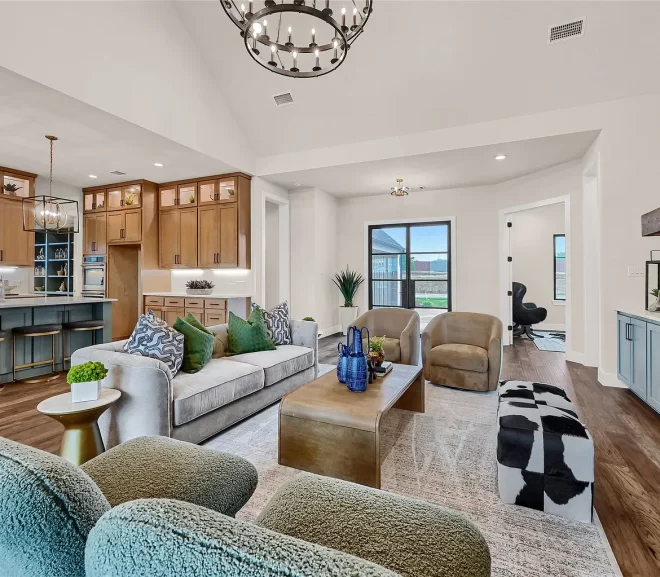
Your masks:
<svg viewBox="0 0 660 577"><path fill-rule="evenodd" d="M149 311L146 315L140 315L124 350L131 355L163 361L174 377L183 362L183 340L181 333L168 327L164 320Z"/></svg>

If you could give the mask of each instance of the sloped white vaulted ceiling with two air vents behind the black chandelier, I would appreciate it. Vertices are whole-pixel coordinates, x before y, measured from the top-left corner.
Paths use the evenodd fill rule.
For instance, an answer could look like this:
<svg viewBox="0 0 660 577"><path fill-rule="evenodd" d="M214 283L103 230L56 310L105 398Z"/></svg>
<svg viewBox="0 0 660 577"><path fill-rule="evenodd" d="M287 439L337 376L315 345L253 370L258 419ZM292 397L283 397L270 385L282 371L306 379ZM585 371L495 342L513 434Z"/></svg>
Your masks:
<svg viewBox="0 0 660 577"><path fill-rule="evenodd" d="M316 79L252 62L219 2L177 8L257 156L660 91L658 2L376 0L347 61ZM548 45L550 25L581 17L583 37ZM278 109L285 91L295 104Z"/></svg>

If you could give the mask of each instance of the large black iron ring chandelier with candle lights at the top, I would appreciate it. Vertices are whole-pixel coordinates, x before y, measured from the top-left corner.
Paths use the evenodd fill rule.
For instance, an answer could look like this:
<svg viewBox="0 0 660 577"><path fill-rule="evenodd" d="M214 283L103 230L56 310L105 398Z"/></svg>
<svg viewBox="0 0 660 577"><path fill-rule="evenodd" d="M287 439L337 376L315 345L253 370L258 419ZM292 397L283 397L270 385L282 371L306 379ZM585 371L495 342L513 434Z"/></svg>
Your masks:
<svg viewBox="0 0 660 577"><path fill-rule="evenodd" d="M314 78L339 68L373 10L373 0L220 3L240 29L250 56L292 78Z"/></svg>

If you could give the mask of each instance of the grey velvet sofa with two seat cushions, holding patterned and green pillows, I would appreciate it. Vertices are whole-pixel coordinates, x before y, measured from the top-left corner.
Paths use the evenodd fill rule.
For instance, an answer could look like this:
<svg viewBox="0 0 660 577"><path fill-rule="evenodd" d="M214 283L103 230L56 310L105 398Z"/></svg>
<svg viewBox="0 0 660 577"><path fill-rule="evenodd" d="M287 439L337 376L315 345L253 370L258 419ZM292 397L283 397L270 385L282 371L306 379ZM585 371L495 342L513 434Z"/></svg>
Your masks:
<svg viewBox="0 0 660 577"><path fill-rule="evenodd" d="M208 328L227 350L227 325ZM316 378L318 325L291 320L290 328L291 345L214 358L174 378L162 361L125 353L125 341L79 349L71 364L102 362L103 386L122 392L99 419L106 448L145 435L199 443Z"/></svg>

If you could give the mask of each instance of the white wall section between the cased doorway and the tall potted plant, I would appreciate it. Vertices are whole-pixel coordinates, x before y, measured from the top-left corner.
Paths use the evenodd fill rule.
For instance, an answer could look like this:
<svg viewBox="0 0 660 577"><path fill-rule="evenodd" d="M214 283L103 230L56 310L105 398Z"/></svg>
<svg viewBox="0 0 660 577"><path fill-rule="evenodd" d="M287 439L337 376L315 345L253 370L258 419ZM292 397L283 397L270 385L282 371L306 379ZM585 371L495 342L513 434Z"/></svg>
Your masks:
<svg viewBox="0 0 660 577"><path fill-rule="evenodd" d="M291 314L313 317L324 334L339 327L337 199L319 189L290 191Z"/></svg>

